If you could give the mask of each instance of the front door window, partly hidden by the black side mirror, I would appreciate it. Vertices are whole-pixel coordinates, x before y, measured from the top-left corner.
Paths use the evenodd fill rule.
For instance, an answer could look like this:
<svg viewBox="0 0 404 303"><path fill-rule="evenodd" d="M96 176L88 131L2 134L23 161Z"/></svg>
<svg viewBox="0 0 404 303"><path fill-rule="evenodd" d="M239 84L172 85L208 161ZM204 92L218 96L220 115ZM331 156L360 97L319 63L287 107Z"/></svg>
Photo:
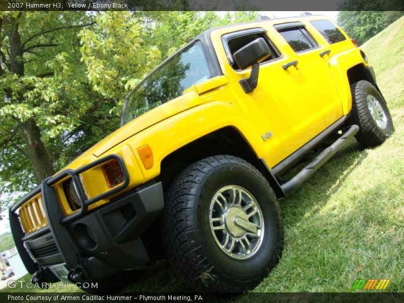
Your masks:
<svg viewBox="0 0 404 303"><path fill-rule="evenodd" d="M227 37L226 37L227 36ZM234 36L234 37L233 37ZM251 34L242 34L237 35L235 33L231 33L228 35L224 36L223 43L225 44L225 49L228 57L229 57L229 62L232 68L235 70L239 70L239 66L237 63L235 63L233 59L233 54L238 51L241 47L244 45L248 44L249 42L254 41L255 39L258 38L264 38L264 40L267 42L269 49L271 50L271 56L262 61L261 63L265 63L274 59L279 58L281 55L278 51L278 49L275 47L275 45L269 40L268 36L266 35L265 32L256 32L256 33L251 33Z"/></svg>

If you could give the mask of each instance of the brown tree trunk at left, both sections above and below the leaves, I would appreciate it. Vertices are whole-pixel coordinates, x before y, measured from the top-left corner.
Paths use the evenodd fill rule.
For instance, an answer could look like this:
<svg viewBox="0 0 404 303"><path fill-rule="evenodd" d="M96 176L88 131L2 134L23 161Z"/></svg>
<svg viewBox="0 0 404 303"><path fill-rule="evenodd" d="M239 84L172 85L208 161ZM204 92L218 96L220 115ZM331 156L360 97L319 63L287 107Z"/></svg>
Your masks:
<svg viewBox="0 0 404 303"><path fill-rule="evenodd" d="M10 72L19 76L24 75L23 46L18 31L19 20L15 20L9 31L10 40ZM23 99L22 95L20 97ZM54 168L41 138L41 132L34 118L19 123L22 128L28 156L38 184L46 177L54 174Z"/></svg>

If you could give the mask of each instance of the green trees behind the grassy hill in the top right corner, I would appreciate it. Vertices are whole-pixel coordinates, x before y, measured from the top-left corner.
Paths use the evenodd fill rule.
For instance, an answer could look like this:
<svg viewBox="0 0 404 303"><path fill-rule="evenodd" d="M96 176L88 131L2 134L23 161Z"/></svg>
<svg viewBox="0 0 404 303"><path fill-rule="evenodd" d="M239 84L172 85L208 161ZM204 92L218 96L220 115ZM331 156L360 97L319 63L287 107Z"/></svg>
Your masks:
<svg viewBox="0 0 404 303"><path fill-rule="evenodd" d="M363 5L365 9L368 7L366 3ZM404 12L341 11L338 14L338 23L358 45L361 45L402 15Z"/></svg>

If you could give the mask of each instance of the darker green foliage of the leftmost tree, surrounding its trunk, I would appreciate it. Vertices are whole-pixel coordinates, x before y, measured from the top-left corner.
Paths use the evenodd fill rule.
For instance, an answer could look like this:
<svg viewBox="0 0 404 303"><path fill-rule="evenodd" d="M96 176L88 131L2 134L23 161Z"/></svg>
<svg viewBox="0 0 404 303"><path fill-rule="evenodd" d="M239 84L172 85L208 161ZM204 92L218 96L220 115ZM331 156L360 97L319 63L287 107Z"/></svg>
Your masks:
<svg viewBox="0 0 404 303"><path fill-rule="evenodd" d="M77 156L77 151L69 155L70 143L85 127L86 114L100 107L95 103L100 96L89 93L78 51L79 26L92 18L84 13L1 13L0 193L24 192L36 183L21 129L29 119L40 128L56 168ZM10 38L17 25L20 52L12 50ZM23 63L19 73L12 66L16 53L16 62ZM18 196L7 195L7 200Z"/></svg>

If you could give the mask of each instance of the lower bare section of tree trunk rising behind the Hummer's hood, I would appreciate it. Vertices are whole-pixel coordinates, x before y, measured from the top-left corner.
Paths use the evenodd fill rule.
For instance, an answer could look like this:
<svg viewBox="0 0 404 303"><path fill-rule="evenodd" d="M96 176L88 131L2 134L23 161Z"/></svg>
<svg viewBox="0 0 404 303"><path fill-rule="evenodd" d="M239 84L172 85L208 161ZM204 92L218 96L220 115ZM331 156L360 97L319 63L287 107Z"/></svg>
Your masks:
<svg viewBox="0 0 404 303"><path fill-rule="evenodd" d="M55 173L51 158L41 139L41 132L34 119L21 124L22 133L28 148L28 156L38 184Z"/></svg>

